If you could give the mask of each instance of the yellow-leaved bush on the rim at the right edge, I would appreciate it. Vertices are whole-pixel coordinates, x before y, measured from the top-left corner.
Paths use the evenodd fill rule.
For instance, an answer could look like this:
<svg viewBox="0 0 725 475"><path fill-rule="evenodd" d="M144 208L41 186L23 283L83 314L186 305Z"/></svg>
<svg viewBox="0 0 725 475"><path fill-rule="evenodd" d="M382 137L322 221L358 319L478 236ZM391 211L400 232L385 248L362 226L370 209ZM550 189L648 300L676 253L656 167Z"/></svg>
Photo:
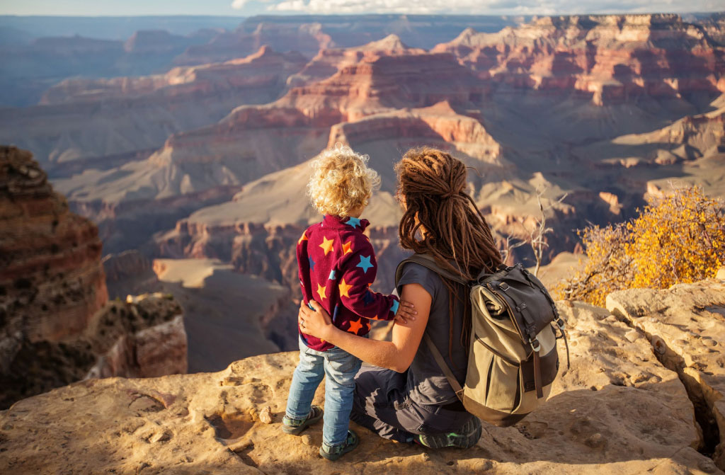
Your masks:
<svg viewBox="0 0 725 475"><path fill-rule="evenodd" d="M621 289L666 289L713 277L725 264L725 207L697 186L673 188L639 216L580 231L589 258L557 289L560 298L603 306Z"/></svg>

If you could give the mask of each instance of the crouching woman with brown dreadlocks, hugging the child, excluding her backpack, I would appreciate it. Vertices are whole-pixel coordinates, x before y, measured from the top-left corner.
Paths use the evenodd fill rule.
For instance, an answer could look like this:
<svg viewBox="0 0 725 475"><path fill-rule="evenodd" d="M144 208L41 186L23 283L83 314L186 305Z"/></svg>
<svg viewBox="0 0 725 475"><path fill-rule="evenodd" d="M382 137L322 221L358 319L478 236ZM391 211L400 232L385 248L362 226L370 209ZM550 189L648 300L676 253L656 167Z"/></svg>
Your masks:
<svg viewBox="0 0 725 475"><path fill-rule="evenodd" d="M465 192L466 169L437 149L408 151L396 166L397 197L405 210L399 226L405 249L431 255L444 269L472 280L501 263L486 220ZM317 302L299 311L306 334L336 345L366 363L355 378L350 418L381 437L427 447L471 447L481 422L467 413L427 345L433 339L459 381L465 379L471 336L466 289L416 263L406 263L398 283L401 300L417 318L396 324L391 342L349 334L331 324Z"/></svg>

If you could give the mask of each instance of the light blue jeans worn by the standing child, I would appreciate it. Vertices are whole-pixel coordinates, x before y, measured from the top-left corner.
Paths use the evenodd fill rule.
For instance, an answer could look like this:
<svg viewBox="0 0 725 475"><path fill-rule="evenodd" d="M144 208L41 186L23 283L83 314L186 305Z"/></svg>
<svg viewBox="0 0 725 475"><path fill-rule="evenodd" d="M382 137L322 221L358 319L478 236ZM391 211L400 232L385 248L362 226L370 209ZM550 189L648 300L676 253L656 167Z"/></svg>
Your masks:
<svg viewBox="0 0 725 475"><path fill-rule="evenodd" d="M325 415L323 416L323 445L344 445L355 392L355 375L362 362L338 347L316 351L299 339L299 364L292 375L285 416L302 421L310 414L312 398L325 379Z"/></svg>

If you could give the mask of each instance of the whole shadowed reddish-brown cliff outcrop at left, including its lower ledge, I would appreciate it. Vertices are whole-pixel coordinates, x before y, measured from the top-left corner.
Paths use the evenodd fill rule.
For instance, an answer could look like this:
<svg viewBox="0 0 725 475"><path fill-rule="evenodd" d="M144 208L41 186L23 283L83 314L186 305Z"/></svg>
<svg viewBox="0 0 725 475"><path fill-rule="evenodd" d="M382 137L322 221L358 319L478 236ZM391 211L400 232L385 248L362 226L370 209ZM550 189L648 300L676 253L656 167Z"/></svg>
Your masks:
<svg viewBox="0 0 725 475"><path fill-rule="evenodd" d="M96 226L29 152L0 147L0 407L98 376L186 372L181 309L108 302Z"/></svg>

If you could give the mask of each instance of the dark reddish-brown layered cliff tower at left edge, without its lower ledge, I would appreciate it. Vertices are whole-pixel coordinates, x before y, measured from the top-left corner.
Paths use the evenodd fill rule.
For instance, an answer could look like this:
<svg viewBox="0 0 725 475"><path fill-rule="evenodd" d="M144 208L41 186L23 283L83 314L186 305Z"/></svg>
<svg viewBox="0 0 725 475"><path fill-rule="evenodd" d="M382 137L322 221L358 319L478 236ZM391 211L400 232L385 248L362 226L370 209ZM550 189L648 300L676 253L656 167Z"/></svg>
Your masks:
<svg viewBox="0 0 725 475"><path fill-rule="evenodd" d="M70 212L30 152L14 147L0 148L0 199L3 337L80 333L108 300L96 226Z"/></svg>

